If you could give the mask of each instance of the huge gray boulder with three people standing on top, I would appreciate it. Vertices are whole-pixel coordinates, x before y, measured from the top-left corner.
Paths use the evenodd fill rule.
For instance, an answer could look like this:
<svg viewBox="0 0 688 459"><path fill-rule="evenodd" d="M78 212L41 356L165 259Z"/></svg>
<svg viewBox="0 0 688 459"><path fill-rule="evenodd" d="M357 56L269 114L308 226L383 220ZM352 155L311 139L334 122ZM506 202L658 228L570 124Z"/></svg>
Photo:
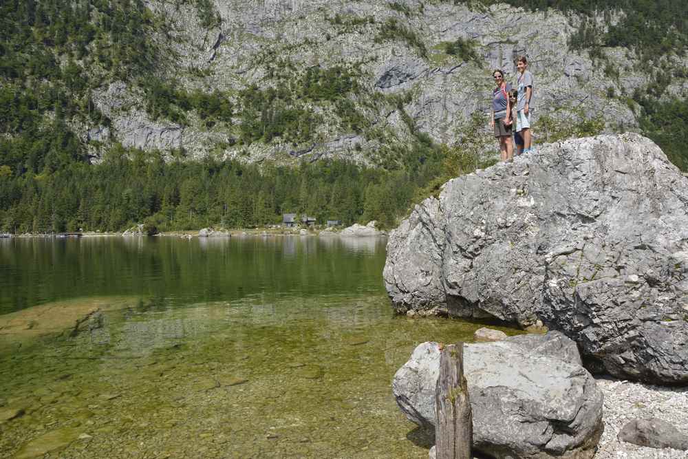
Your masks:
<svg viewBox="0 0 688 459"><path fill-rule="evenodd" d="M391 233L395 308L542 321L595 369L688 382L688 178L637 134L455 178Z"/></svg>

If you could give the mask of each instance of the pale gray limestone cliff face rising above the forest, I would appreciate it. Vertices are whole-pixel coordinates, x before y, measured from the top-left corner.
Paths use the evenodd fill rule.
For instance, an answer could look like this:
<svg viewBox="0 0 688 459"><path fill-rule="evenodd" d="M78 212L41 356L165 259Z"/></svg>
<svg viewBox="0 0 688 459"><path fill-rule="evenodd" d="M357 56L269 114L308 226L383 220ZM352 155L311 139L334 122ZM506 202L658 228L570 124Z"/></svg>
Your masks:
<svg viewBox="0 0 688 459"><path fill-rule="evenodd" d="M491 145L486 118L491 70L501 68L512 79L519 54L528 56L536 77L536 120L545 114L568 120L565 124L603 118L610 131L636 129L634 106L608 95L630 95L649 84L647 72L628 67L628 50L603 50L608 67L627 69L614 77L605 74L599 58L594 63L588 52L570 50L568 41L580 18L555 10L533 13L506 5L471 10L418 0L211 3L218 20L208 26L192 3L149 2L165 21L155 36L163 53L162 78L187 89L236 94L251 85L274 87L279 78L292 81L312 67L355 67L358 88L343 100L363 126L352 129L332 104L306 103L305 110L321 120L310 140L238 145L241 121L207 128L193 114L185 126L152 120L142 109L142 90L114 81L94 89L96 106L111 120L107 142L184 149L192 158L211 152L250 162L337 157L383 164L389 160L383 157L385 147L407 145L419 132L452 144L471 130ZM473 57L447 54L447 43L458 39L473 40ZM685 94L685 86L682 79L674 81L669 93ZM102 131L98 126L80 129L84 138ZM541 129L536 134L542 140L548 133Z"/></svg>

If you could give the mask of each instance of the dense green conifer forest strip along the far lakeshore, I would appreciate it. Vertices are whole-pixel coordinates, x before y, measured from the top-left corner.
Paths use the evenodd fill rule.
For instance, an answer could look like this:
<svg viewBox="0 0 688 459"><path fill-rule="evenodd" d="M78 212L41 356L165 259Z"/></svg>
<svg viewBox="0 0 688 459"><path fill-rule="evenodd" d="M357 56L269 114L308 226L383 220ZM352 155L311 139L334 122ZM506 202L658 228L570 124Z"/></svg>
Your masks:
<svg viewBox="0 0 688 459"><path fill-rule="evenodd" d="M251 228L283 213L318 224L378 220L394 225L419 186L439 175L438 158L415 172L321 160L259 167L234 160L165 161L160 153L114 147L101 164L13 175L0 166L0 229L14 233L120 231L143 222L159 231Z"/></svg>

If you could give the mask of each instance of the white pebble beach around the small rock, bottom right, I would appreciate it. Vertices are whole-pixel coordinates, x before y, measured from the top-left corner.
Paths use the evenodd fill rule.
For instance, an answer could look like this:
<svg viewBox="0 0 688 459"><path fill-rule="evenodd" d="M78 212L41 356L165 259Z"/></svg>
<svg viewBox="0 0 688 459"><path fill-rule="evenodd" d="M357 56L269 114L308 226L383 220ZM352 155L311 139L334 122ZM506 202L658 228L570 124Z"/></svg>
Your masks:
<svg viewBox="0 0 688 459"><path fill-rule="evenodd" d="M662 387L597 379L604 392L604 433L595 459L688 459L688 451L654 449L619 442L621 428L634 418L660 418L688 434L688 387Z"/></svg>

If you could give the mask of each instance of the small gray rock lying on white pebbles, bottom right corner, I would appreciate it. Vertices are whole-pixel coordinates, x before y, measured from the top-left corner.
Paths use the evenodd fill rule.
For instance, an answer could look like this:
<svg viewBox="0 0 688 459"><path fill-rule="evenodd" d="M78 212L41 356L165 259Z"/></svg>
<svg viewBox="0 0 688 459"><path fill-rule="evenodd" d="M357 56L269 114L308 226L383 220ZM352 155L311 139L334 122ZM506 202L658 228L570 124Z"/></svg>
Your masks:
<svg viewBox="0 0 688 459"><path fill-rule="evenodd" d="M658 418L634 419L619 431L619 441L649 448L688 450L688 435Z"/></svg>

